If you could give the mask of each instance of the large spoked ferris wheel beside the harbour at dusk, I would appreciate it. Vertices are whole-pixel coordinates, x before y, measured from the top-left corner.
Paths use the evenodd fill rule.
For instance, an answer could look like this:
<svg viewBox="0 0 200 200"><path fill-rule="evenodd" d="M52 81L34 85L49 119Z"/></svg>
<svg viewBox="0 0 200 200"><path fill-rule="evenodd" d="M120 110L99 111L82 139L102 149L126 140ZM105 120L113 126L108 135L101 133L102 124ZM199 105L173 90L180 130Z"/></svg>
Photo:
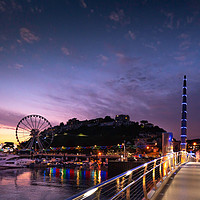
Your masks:
<svg viewBox="0 0 200 200"><path fill-rule="evenodd" d="M50 122L40 115L28 115L22 118L16 127L16 139L25 149L47 149L53 137Z"/></svg>

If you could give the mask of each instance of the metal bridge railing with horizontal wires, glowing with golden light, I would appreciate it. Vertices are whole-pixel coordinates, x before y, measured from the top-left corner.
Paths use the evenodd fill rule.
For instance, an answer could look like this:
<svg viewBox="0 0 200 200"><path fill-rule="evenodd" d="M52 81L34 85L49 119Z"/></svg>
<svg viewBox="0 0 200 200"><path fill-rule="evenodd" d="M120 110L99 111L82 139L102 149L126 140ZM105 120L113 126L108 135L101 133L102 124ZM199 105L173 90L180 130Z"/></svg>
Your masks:
<svg viewBox="0 0 200 200"><path fill-rule="evenodd" d="M67 200L148 200L172 172L188 161L196 159L187 152L171 153L93 186Z"/></svg>

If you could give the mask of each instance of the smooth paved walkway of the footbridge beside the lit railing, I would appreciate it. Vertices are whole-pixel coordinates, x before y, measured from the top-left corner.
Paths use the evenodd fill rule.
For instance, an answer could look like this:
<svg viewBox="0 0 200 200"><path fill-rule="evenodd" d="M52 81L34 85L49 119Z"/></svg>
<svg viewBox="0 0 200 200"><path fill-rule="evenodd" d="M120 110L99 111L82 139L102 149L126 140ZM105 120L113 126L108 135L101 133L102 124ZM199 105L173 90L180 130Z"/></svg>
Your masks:
<svg viewBox="0 0 200 200"><path fill-rule="evenodd" d="M157 200L200 200L200 163L190 162L169 181Z"/></svg>

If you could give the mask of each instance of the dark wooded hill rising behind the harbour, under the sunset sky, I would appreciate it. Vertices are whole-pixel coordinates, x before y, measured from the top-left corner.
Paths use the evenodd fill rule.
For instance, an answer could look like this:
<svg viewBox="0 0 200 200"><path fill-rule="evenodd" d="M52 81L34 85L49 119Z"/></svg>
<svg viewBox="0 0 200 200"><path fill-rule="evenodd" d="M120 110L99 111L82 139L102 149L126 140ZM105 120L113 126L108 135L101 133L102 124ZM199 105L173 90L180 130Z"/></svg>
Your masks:
<svg viewBox="0 0 200 200"><path fill-rule="evenodd" d="M93 123L77 123L64 125L53 128L55 137L51 146L91 146L91 145L116 145L121 144L125 140L130 144L134 144L136 138L145 137L145 135L152 135L155 137L161 137L162 132L166 132L164 129L154 126L148 123L148 121L130 122L125 121L119 123L119 121L108 118L108 122L100 122L101 118ZM70 120L69 120L70 121ZM85 121L84 121L85 122Z"/></svg>

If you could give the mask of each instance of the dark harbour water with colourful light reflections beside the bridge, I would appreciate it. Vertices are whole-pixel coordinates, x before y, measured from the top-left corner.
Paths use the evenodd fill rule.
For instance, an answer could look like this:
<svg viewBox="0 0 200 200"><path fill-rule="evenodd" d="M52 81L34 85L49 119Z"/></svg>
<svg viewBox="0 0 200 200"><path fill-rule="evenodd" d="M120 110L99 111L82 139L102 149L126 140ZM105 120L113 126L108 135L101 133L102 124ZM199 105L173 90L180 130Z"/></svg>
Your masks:
<svg viewBox="0 0 200 200"><path fill-rule="evenodd" d="M0 171L0 199L63 200L107 180L107 171L67 168Z"/></svg>

